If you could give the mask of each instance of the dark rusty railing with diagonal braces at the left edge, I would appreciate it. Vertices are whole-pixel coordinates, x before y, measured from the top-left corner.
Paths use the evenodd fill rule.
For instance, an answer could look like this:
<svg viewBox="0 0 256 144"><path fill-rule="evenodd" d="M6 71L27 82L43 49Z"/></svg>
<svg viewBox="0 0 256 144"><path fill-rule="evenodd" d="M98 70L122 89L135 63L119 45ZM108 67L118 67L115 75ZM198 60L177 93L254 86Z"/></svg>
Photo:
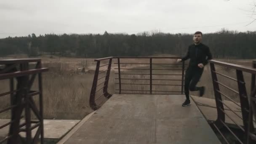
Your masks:
<svg viewBox="0 0 256 144"><path fill-rule="evenodd" d="M35 63L35 65L32 65ZM10 90L0 93L0 98L10 95L10 106L0 110L0 113L11 111L11 120L0 126L0 130L9 126L9 132L4 139L0 140L0 144L43 144L43 87L42 72L48 71L48 68L42 68L40 59L6 59L0 60L0 81L9 79ZM32 67L32 69L30 68ZM38 76L38 90L32 91L32 85ZM16 82L15 82L16 80ZM16 83L16 87L14 84ZM39 95L39 109L37 108L33 96ZM31 120L31 110L35 114L37 120ZM25 116L22 115L24 112ZM21 124L21 119L25 118ZM34 138L32 139L32 130L38 128ZM23 139L20 132L25 132Z"/></svg>

